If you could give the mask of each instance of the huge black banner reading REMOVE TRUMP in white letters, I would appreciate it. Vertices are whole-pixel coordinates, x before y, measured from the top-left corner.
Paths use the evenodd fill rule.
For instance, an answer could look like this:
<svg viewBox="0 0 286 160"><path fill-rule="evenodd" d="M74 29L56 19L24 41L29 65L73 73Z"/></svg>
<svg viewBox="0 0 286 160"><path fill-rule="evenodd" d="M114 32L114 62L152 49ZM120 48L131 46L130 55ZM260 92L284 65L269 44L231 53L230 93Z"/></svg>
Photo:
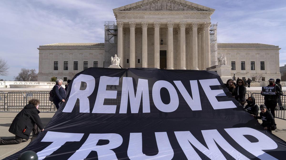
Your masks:
<svg viewBox="0 0 286 160"><path fill-rule="evenodd" d="M278 126L279 127L279 126ZM23 150L39 159L285 159L214 71L88 68Z"/></svg>

